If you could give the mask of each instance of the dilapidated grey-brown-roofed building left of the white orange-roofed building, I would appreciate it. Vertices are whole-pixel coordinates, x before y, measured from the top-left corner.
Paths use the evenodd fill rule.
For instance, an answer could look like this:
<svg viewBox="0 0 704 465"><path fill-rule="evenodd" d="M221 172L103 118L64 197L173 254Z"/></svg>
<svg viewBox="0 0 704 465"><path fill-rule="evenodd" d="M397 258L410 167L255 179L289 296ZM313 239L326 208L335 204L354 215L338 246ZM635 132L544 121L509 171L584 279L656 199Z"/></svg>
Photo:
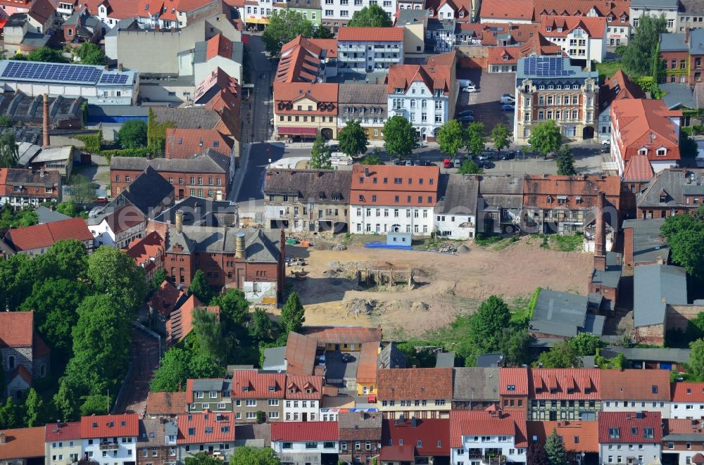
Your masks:
<svg viewBox="0 0 704 465"><path fill-rule="evenodd" d="M342 170L267 170L264 216L268 227L346 232L351 179L351 172Z"/></svg>

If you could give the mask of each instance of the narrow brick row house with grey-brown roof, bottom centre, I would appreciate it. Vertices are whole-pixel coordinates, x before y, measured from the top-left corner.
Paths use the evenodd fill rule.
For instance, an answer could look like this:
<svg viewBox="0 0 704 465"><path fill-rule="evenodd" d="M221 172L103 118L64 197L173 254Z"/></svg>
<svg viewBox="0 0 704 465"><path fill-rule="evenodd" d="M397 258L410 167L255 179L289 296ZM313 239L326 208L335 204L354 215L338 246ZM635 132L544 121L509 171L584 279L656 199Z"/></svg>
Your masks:
<svg viewBox="0 0 704 465"><path fill-rule="evenodd" d="M337 429L341 461L365 463L382 447L382 415L379 412L340 412Z"/></svg>

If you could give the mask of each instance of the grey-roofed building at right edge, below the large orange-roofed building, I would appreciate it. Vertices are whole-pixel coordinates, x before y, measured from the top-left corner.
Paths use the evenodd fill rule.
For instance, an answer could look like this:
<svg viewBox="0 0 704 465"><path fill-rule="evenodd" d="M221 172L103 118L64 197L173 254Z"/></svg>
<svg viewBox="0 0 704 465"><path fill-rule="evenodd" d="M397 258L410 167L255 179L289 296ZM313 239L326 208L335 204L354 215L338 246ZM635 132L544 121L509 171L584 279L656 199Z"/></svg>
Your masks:
<svg viewBox="0 0 704 465"><path fill-rule="evenodd" d="M666 218L693 213L704 203L704 170L670 168L655 173L636 195L638 218Z"/></svg>

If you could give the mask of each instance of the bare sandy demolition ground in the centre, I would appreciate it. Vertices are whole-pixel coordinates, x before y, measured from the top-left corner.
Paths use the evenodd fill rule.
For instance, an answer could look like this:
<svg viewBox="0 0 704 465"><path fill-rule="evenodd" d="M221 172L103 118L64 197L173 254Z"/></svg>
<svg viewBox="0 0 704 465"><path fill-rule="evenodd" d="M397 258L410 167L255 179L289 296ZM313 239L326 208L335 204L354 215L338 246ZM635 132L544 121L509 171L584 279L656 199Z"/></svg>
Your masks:
<svg viewBox="0 0 704 465"><path fill-rule="evenodd" d="M586 294L592 257L540 247L540 239L522 238L502 250L468 243L468 253L446 255L417 250L287 249L306 257L306 279L288 279L306 306L307 325L381 325L391 338L420 336L451 323L455 314L473 312L489 295L508 302L537 286ZM300 270L300 267L290 267ZM357 269L413 270L415 288L398 284L357 286ZM394 281L408 281L399 273Z"/></svg>

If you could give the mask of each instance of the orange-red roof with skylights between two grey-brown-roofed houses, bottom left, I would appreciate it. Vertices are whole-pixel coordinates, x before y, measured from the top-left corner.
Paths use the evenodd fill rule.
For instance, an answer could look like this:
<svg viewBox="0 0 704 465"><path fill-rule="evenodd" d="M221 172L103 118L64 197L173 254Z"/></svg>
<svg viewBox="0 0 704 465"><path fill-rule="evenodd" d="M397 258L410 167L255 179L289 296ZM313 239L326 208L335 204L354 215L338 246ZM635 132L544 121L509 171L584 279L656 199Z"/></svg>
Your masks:
<svg viewBox="0 0 704 465"><path fill-rule="evenodd" d="M234 441L234 413L181 414L177 419L177 444L201 444Z"/></svg>

